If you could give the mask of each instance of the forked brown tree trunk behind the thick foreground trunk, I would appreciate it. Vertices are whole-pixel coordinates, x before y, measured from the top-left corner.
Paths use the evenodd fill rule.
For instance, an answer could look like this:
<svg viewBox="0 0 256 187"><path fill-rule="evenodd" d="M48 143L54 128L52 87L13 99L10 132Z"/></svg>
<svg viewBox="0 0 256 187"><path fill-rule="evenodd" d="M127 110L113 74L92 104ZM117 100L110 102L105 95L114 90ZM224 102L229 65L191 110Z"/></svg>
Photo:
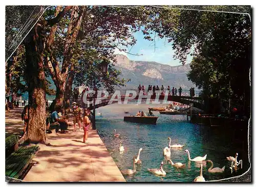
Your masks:
<svg viewBox="0 0 256 187"><path fill-rule="evenodd" d="M70 92L70 89L72 89L72 83L73 78L69 80L69 85L66 86L66 82L68 81L67 78L69 76L69 66L71 63L71 59L73 56L72 47L74 41L76 41L78 31L80 30L82 17L84 10L86 9L85 6L78 7L74 6L71 11L71 21L68 27L68 35L66 38L66 43L63 49L63 62L61 66L61 71L59 69L59 66L57 64L57 61L55 57L51 56L51 58L48 59L48 67L50 69L50 73L52 76L52 79L56 86L56 104L62 106L62 111L64 112L67 107L69 107L69 98L70 93L66 94L67 91ZM57 9L56 12L58 12L59 9ZM48 37L48 50L51 52L51 45L54 42L54 35L56 33L56 28L52 27L50 31L50 35ZM69 76L69 78L72 76ZM70 84L71 83L71 84ZM68 90L65 90L68 89ZM67 101L68 100L68 101Z"/></svg>

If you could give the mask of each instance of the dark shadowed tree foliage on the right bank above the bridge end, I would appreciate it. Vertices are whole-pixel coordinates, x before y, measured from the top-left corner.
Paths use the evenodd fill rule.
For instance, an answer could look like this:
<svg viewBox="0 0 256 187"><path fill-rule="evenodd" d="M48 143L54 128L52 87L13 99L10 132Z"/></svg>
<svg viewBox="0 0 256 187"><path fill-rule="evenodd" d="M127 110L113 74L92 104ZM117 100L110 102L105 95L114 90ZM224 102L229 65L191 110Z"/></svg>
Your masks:
<svg viewBox="0 0 256 187"><path fill-rule="evenodd" d="M248 15L186 12L193 25L179 29L174 39L179 53L195 46L188 79L196 83L207 96L232 99L236 104L250 106L250 45L251 30ZM188 26L188 27L187 27ZM178 58L181 55L178 54ZM185 60L185 59L182 59ZM183 61L184 62L184 61Z"/></svg>

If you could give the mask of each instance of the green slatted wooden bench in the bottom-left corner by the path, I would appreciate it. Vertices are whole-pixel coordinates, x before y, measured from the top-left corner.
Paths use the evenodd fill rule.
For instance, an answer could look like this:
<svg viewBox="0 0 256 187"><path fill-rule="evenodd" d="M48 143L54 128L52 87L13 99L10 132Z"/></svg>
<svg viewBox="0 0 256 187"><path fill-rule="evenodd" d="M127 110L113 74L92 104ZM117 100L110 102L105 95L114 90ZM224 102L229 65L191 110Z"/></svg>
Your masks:
<svg viewBox="0 0 256 187"><path fill-rule="evenodd" d="M13 134L6 138L5 176L7 181L23 179L32 167L30 162L40 150L39 146L18 147L18 137ZM15 180L16 179L16 180Z"/></svg>

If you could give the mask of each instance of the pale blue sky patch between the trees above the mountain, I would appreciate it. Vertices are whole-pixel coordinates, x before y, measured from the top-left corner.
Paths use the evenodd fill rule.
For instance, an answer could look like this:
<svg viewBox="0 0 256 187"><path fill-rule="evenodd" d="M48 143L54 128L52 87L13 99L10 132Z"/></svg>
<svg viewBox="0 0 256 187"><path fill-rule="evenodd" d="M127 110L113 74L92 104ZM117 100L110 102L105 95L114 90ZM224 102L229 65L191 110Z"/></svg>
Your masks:
<svg viewBox="0 0 256 187"><path fill-rule="evenodd" d="M154 47L153 41L148 41L144 39L144 36L141 32L136 32L134 34L137 42L134 46L129 46L127 51L132 54L142 54L140 56L127 54L123 51L115 50L115 54L122 54L127 56L130 60L133 61L155 61L161 64L167 64L170 66L181 65L179 60L174 60L174 50L172 49L172 43L168 43L167 39L156 37L156 49ZM187 62L190 63L192 56L187 56Z"/></svg>

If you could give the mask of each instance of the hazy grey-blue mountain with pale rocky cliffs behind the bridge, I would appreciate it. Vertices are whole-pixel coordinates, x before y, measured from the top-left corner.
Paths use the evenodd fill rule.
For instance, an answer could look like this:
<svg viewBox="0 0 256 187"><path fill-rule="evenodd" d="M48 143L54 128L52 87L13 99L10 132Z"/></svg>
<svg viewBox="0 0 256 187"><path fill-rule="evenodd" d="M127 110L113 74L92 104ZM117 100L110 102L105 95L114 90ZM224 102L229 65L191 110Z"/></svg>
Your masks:
<svg viewBox="0 0 256 187"><path fill-rule="evenodd" d="M139 84L161 85L189 89L196 87L188 81L186 74L190 71L189 64L170 66L157 62L132 61L124 55L116 55L115 68L122 72L120 78L131 79L127 88L137 88Z"/></svg>

